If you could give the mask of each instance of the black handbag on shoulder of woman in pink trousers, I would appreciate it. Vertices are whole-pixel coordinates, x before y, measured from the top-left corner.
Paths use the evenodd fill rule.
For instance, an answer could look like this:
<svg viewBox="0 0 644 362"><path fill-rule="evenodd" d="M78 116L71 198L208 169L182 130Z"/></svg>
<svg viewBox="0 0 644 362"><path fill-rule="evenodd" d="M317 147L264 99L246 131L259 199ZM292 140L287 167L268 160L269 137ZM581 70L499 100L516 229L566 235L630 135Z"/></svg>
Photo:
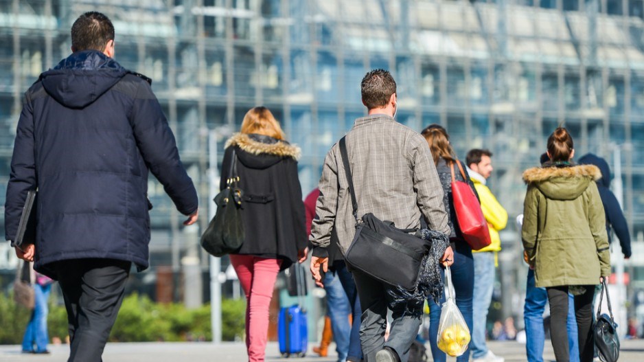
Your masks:
<svg viewBox="0 0 644 362"><path fill-rule="evenodd" d="M242 247L245 233L242 222L242 196L238 187L237 155L233 157L228 172L227 187L215 196L217 212L201 236L201 247L213 256L225 256Z"/></svg>

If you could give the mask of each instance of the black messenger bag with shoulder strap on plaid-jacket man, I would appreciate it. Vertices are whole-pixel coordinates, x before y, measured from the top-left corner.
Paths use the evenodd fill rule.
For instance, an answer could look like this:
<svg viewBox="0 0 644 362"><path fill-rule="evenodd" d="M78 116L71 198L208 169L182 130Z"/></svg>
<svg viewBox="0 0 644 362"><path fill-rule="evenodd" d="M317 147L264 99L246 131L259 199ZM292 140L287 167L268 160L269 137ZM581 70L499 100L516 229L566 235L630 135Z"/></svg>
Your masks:
<svg viewBox="0 0 644 362"><path fill-rule="evenodd" d="M351 194L356 235L352 240L345 261L372 278L413 291L418 282L418 273L429 245L426 240L409 234L415 229L398 229L390 221L382 221L368 213L358 219L358 201L354 192L354 181L349 168L349 157L345 137L340 139L340 153L347 172L349 194Z"/></svg>

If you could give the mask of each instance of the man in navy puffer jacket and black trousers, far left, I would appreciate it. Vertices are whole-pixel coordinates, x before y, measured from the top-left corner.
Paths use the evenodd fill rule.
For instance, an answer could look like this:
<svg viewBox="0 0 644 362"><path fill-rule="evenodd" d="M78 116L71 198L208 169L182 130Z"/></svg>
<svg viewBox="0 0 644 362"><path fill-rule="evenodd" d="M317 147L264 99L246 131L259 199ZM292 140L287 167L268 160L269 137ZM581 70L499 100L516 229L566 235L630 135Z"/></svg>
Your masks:
<svg viewBox="0 0 644 362"><path fill-rule="evenodd" d="M60 282L69 361L100 361L130 266L148 267L148 170L191 225L192 179L150 80L121 67L114 27L99 12L71 27L73 54L25 93L5 204L14 240L28 190L37 189L36 243L16 247Z"/></svg>

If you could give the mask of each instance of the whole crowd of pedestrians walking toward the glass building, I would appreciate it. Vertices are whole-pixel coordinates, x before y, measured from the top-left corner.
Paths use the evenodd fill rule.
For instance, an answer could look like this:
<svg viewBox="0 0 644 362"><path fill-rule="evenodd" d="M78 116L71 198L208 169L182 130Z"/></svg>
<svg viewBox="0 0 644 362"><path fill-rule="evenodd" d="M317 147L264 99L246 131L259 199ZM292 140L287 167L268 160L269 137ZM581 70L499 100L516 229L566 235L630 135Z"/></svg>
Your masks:
<svg viewBox="0 0 644 362"><path fill-rule="evenodd" d="M187 217L184 225L198 220L199 202L151 80L114 59L111 21L98 12L82 14L71 27L71 43L72 54L25 93L5 235L12 243L20 240L27 192L37 190L36 239L15 244L16 255L33 263L35 271L28 273L37 272L23 352L47 352L47 296L56 280L69 320L69 361L101 361L130 268L142 271L149 265L148 172ZM222 170L230 174L221 178L220 189L229 188L234 199L225 207L241 208L235 223L243 233L220 234L241 242L227 253L246 297L249 361L265 358L278 273L307 260L310 277L326 292L323 341L313 349L321 356L334 339L338 362L415 361L428 305L434 361L454 356L443 342L457 338L468 346L457 361L504 361L486 344L499 231L508 220L488 185L494 155L473 148L459 159L444 126L430 124L418 132L396 122L396 87L389 71L365 75L360 91L367 115L327 152L319 185L304 201L300 150L286 140L268 108L250 109L240 131L226 142ZM608 163L592 154L575 162L573 135L563 127L543 146L538 166L522 175L527 191L517 218L528 269L527 359L543 361L542 315L549 302L557 361L589 362L593 299L597 285L610 275L610 231L617 234L624 258L631 256L630 236L609 189ZM485 247L470 242L471 231L460 216L459 184L467 185L475 211L484 218ZM417 236L422 250L394 240L385 229ZM388 279L392 270L383 276L376 263L354 262L354 248L364 248L365 240L391 247L391 258L417 260L415 289ZM369 247L363 250L375 260ZM453 291L443 293L446 284ZM441 308L452 300L466 336L444 332ZM491 335L515 339L514 319L495 323Z"/></svg>

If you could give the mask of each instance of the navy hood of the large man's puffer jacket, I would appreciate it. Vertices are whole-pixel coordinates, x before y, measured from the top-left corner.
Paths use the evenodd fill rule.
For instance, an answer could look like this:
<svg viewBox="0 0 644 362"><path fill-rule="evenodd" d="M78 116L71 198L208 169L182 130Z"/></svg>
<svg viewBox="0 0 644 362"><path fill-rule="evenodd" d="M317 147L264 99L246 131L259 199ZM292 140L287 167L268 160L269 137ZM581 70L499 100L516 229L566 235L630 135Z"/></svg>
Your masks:
<svg viewBox="0 0 644 362"><path fill-rule="evenodd" d="M82 109L100 98L128 71L112 58L96 50L76 52L42 73L45 91L58 103Z"/></svg>

